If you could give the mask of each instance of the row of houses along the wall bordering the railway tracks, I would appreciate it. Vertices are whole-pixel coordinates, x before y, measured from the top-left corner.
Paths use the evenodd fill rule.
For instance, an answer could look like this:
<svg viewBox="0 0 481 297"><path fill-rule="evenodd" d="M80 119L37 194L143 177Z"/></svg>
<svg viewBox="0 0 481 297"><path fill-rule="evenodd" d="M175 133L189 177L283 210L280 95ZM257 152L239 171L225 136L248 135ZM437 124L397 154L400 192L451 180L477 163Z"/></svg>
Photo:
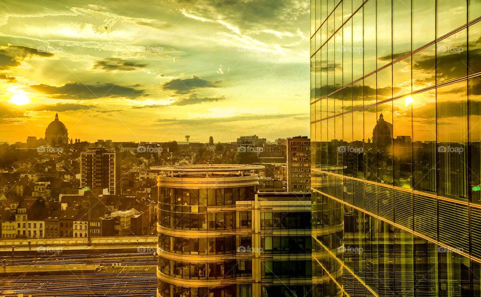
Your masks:
<svg viewBox="0 0 481 297"><path fill-rule="evenodd" d="M148 199L91 194L0 199L1 238L58 238L147 235L156 221ZM57 209L56 209L57 208Z"/></svg>

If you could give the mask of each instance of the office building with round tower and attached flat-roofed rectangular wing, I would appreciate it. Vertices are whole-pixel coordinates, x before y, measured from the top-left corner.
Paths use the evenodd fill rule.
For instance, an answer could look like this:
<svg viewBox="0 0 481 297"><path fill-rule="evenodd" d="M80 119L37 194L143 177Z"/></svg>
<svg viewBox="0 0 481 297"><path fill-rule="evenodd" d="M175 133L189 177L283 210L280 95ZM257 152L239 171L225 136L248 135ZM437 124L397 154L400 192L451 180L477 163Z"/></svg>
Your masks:
<svg viewBox="0 0 481 297"><path fill-rule="evenodd" d="M161 297L311 296L308 193L256 194L262 166L159 173Z"/></svg>

